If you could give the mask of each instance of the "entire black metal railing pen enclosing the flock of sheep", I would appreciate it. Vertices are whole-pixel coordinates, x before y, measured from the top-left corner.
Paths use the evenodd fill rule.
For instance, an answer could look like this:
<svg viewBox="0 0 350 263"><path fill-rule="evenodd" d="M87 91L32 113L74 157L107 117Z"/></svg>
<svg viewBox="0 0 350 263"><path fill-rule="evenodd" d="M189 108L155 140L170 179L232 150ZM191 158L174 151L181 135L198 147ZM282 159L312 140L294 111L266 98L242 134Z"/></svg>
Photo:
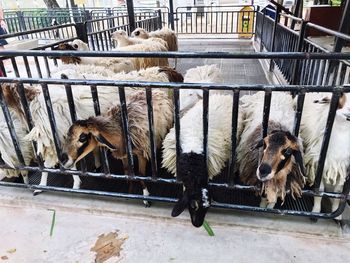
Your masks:
<svg viewBox="0 0 350 263"><path fill-rule="evenodd" d="M188 11L190 12L190 11ZM215 11L216 14L220 11ZM224 12L224 11L222 11ZM226 12L226 11L225 11ZM233 11L234 13L235 11ZM210 13L210 11L206 11ZM110 196L126 199L140 199L154 202L176 202L179 194L182 192L182 184L176 180L173 175L161 167L161 152L157 151L154 142L154 119L152 106L152 93L155 88L172 91L174 101L174 126L176 130L176 154L177 159L181 154L180 148L180 104L179 93L185 89L195 89L202 91L203 97L203 149L204 156L207 159L208 149L208 106L210 104L210 94L215 90L225 91L226 94L232 94L232 112L228 112L232 118L232 135L231 135L231 153L226 168L213 181L209 182L209 188L212 194L212 207L234 209L242 211L266 212L278 215L305 216L310 218L335 218L344 211L346 203L350 200L350 177L346 177L344 187L341 192L320 191L323 167L327 156L327 148L332 132L332 125L335 119L338 100L342 93L350 92L349 75L350 75L350 55L346 53L333 53L322 48L307 36L310 28L323 30L335 38L349 41L350 36L334 32L318 25L307 23L301 19L292 17L289 14L278 13L275 19L265 15L264 11L252 11L254 19L251 20L253 25L252 35L254 34L255 42L260 46L260 51L256 53L227 53L227 52L115 52L111 51L114 43L111 41L111 33L118 29L124 29L130 32L130 25L120 24L123 19L122 15L109 17L100 17L88 20L83 23L63 24L41 29L34 29L26 32L12 33L7 36L1 36L1 39L38 39L39 47L26 51L5 50L1 52L0 67L2 72L6 72L10 67L13 75L1 78L2 83L14 83L17 85L20 103L25 113L25 120L28 129L33 128L33 120L30 112L30 105L25 96L24 85L38 85L45 98L45 104L50 117L49 129L55 144L57 158L62 156L62 142L58 136L58 126L55 121L57 112L52 107L50 99L50 86L62 85L65 87L67 101L70 111L70 119L76 121L75 105L73 93L75 86L86 86L91 89L94 112L96 115L101 114L99 105L99 91L106 86L117 87L120 105L122 105L122 123L126 138L126 152L129 164L129 173L124 174L121 169L120 161L113 160L108 151L101 150L102 168L96 169L91 165L91 156L87 156L80 162L77 170L65 169L62 165L57 167L45 167L42 157L35 156L35 163L26 165L23 153L20 147L20 139L14 129L12 116L9 111L9 105L6 104L3 90L0 90L0 104L3 115L6 119L7 128L10 132L13 147L20 165L10 167L4 161L1 162L1 169L18 169L29 171L29 184L4 179L0 182L1 187L19 187L24 190L43 190L57 191L85 195ZM174 15L174 14L173 14ZM178 15L182 16L180 12ZM190 16L192 17L193 14ZM174 15L176 17L176 14ZM187 16L189 17L189 16ZM221 16L220 17L224 17ZM287 22L279 23L279 17L284 17ZM192 19L192 18L191 18ZM232 20L232 19L231 19ZM180 20L176 20L180 23ZM191 20L192 21L192 20ZM198 20L196 20L198 21ZM154 11L151 17L141 20L136 19L136 27L143 27L147 30L155 30L162 26L162 18L159 11ZM192 28L192 27L191 27ZM183 27L181 30L184 30ZM238 31L236 31L238 32ZM198 33L198 32L197 32ZM200 31L200 33L206 33ZM231 32L232 33L232 32ZM59 37L58 37L59 36ZM81 39L87 42L93 51L52 51L52 48L59 43ZM337 50L339 51L339 50ZM193 83L156 83L156 82L137 82L137 81L117 81L95 80L95 79L54 79L51 78L52 69L58 64L58 58L68 57L168 57L168 58L198 58L225 59L225 60L247 60L256 59L270 65L270 70L280 73L286 84L282 85L262 85L262 84L193 84ZM5 65L5 66L4 66ZM132 144L129 136L128 114L126 108L127 88L139 88L144 90L147 97L147 114L149 119L149 140L151 146L150 162L147 164L147 176L140 176L137 173L137 161L133 158ZM240 111L239 99L242 94L247 92L263 91L264 108L261 114L261 123L263 132L261 136L267 134L268 120L270 113L271 98L274 92L289 91L297 98L297 106L294 121L294 135L298 136L300 121L303 113L303 103L305 95L311 92L330 92L332 93L330 110L327 118L327 125L323 137L319 162L317 166L316 179L312 187L302 190L302 197L293 199L287 194L286 200L279 202L275 208L259 207L259 197L256 192L260 191L254 186L240 184L237 180L236 172L236 146L237 146L237 119ZM35 153L37 145L33 143ZM177 166L180 164L177 163ZM49 173L48 186L39 185L40 174ZM72 175L78 175L82 178L81 189L72 189ZM143 181L147 183L150 190L150 196L143 196L141 189L128 191L129 181ZM135 186L136 187L136 186ZM326 211L321 213L311 212L313 206L313 197L327 197L330 199L339 199L339 207L336 211Z"/></svg>

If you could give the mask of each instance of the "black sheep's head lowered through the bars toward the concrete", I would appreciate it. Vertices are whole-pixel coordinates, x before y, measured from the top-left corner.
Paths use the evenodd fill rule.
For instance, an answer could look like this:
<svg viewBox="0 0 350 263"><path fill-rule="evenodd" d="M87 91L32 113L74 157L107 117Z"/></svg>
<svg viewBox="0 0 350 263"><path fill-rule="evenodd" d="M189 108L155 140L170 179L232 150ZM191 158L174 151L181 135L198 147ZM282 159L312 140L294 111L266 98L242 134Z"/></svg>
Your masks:
<svg viewBox="0 0 350 263"><path fill-rule="evenodd" d="M175 204L171 215L176 217L187 207L192 225L195 227L203 224L211 203L205 167L204 156L201 154L191 152L180 155L177 177L183 182L184 192Z"/></svg>

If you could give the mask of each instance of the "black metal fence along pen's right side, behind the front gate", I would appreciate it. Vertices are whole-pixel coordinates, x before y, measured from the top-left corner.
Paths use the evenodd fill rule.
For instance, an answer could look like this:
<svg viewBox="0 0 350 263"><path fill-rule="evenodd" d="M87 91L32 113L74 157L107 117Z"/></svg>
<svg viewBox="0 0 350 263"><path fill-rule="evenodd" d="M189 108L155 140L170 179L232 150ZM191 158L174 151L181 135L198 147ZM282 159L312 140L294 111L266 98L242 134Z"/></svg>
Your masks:
<svg viewBox="0 0 350 263"><path fill-rule="evenodd" d="M257 12L256 38L260 41L260 51L271 52L310 52L330 53L317 43L317 39L308 37L310 29L318 30L333 37L349 41L347 35L304 21L275 10L275 19L264 11ZM340 52L341 50L334 50ZM277 65L283 77L292 84L347 84L350 82L348 61L298 61L288 59L271 60L270 70Z"/></svg>

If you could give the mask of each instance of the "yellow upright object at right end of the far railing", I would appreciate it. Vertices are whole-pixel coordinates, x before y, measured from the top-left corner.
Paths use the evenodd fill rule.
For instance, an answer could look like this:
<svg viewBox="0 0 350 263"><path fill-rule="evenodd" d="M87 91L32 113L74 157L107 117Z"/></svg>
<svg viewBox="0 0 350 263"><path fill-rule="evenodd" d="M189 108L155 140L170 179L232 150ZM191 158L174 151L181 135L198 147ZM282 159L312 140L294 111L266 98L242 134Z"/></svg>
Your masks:
<svg viewBox="0 0 350 263"><path fill-rule="evenodd" d="M251 38L253 36L254 9L251 6L245 6L239 11L238 16L238 37Z"/></svg>

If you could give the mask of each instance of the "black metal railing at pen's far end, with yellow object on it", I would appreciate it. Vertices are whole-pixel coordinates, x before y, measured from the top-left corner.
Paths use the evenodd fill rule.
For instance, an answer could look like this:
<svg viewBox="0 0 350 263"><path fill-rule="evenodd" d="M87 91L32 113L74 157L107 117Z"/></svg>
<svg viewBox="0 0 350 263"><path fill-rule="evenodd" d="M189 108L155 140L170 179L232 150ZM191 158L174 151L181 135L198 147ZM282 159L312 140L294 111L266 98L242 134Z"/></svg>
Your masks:
<svg viewBox="0 0 350 263"><path fill-rule="evenodd" d="M174 15L178 34L246 34L252 37L255 31L254 6L178 7Z"/></svg>

